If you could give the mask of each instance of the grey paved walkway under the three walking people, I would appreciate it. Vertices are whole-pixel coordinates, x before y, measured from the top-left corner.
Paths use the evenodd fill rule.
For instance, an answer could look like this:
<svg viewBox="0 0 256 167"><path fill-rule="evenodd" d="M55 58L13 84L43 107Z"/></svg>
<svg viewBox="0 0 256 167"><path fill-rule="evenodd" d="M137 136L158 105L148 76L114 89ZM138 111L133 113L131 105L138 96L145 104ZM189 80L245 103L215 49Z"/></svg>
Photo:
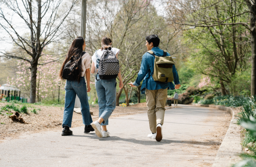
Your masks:
<svg viewBox="0 0 256 167"><path fill-rule="evenodd" d="M31 133L0 143L0 166L210 166L217 151L209 132L219 128L223 111L180 105L166 110L163 140L147 138L147 113L109 119L110 137L84 134L84 127Z"/></svg>

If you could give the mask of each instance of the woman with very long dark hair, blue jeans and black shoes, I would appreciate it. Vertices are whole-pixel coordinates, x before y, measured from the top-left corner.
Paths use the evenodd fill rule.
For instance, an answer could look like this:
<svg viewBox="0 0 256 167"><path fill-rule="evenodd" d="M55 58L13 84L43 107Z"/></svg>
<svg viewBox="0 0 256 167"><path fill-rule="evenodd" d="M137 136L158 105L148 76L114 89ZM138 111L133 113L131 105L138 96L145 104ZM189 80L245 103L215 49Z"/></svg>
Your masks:
<svg viewBox="0 0 256 167"><path fill-rule="evenodd" d="M76 70L78 71L77 76L75 76L75 80L66 80L65 85L65 108L63 113L63 122L61 135L67 136L72 135L73 132L69 129L72 123L72 116L74 111L75 105L75 97L76 95L80 99L81 102L81 112L83 118L83 124L85 125L84 133L89 133L90 131L94 131L92 126L92 117L90 114L90 107L88 103L88 96L87 92L90 92L90 65L91 59L88 53L83 52L85 49L85 40L83 37L77 37L73 40L68 54L66 56L65 61L62 64L60 69L59 77L64 80L63 78L63 70L65 68L65 64L70 63L69 66L76 66ZM69 62L71 60L71 62ZM70 68L71 69L71 68ZM87 88L86 89L86 82L87 81Z"/></svg>

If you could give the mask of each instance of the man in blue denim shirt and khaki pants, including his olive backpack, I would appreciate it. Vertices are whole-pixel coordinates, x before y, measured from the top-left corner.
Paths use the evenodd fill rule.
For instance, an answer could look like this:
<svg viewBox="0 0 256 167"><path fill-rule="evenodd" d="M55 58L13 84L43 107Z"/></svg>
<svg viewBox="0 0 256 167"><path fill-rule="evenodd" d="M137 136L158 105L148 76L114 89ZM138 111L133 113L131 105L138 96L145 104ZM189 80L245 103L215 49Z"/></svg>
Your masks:
<svg viewBox="0 0 256 167"><path fill-rule="evenodd" d="M142 56L140 71L134 83L129 83L131 87L141 86L141 93L146 93L148 107L149 127L151 134L148 138L161 141L163 138L162 125L164 123L164 113L167 98L167 89L179 89L179 76L175 68L175 63L170 54L161 50L158 46L160 39L157 35L146 37L146 47L149 50ZM156 61L159 63L156 65ZM172 81L174 81L175 86Z"/></svg>

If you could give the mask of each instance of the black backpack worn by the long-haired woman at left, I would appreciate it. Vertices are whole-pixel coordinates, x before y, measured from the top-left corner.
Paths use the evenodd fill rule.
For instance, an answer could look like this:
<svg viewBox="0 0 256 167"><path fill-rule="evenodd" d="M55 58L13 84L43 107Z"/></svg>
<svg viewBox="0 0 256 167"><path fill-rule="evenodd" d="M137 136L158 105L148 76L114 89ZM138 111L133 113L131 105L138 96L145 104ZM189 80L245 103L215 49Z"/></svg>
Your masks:
<svg viewBox="0 0 256 167"><path fill-rule="evenodd" d="M82 52L81 57L85 54L85 52ZM63 79L67 79L67 80L76 80L78 75L79 75L79 71L81 69L78 69L77 64L73 65L73 62L75 61L75 57L72 56L70 61L68 61L63 69L63 73L62 73L62 77ZM82 61L81 59L79 61Z"/></svg>

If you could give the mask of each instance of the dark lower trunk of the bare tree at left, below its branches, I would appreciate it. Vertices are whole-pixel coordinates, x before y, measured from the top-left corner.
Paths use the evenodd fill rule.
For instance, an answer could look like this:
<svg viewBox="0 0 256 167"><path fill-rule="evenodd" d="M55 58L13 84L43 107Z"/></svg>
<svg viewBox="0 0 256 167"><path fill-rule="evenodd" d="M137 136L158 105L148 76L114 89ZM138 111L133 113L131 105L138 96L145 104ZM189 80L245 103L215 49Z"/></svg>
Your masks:
<svg viewBox="0 0 256 167"><path fill-rule="evenodd" d="M36 72L37 72L37 62L31 64L31 80L30 80L30 103L36 102Z"/></svg>

